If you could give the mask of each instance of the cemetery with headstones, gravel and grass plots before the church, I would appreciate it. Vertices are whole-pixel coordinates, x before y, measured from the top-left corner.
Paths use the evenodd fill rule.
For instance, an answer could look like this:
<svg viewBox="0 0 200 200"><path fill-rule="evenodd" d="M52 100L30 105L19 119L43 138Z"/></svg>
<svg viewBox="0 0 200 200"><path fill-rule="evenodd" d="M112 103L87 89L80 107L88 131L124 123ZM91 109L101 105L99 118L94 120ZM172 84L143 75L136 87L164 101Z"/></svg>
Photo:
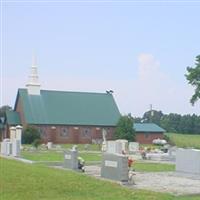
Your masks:
<svg viewBox="0 0 200 200"><path fill-rule="evenodd" d="M170 146L166 146L167 151L140 148L139 143L128 143L127 140L104 140L103 145L96 150L90 150L92 145L82 145L80 151L76 145L66 149L53 143L43 144L39 149L23 147L21 127L16 126L11 128L11 137L1 143L1 156L24 161L29 155L29 159L33 159L31 163L75 171L79 176L85 174L99 181L109 180L133 190L146 189L173 195L200 193L200 150ZM39 159L31 158L31 155L39 154ZM79 167L80 157L84 160L84 170ZM129 166L129 159L133 160L132 166Z"/></svg>

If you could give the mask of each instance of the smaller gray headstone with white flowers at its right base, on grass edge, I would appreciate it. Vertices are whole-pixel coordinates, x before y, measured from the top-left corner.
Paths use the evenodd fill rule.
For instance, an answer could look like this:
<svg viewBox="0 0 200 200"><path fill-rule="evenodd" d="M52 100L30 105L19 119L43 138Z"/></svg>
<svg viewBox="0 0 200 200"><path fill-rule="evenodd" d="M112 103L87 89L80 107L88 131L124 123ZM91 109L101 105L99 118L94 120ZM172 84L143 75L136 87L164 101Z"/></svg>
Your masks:
<svg viewBox="0 0 200 200"><path fill-rule="evenodd" d="M64 168L78 169L78 151L69 150L64 152Z"/></svg>

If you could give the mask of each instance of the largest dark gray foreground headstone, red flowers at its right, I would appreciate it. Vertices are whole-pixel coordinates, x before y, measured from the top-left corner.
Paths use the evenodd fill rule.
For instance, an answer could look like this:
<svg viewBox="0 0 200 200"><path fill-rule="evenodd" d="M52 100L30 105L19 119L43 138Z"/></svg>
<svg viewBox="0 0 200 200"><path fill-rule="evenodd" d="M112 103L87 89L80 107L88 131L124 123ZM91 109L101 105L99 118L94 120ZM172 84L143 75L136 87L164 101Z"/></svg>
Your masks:
<svg viewBox="0 0 200 200"><path fill-rule="evenodd" d="M104 153L101 177L111 180L128 181L128 157L121 154Z"/></svg>

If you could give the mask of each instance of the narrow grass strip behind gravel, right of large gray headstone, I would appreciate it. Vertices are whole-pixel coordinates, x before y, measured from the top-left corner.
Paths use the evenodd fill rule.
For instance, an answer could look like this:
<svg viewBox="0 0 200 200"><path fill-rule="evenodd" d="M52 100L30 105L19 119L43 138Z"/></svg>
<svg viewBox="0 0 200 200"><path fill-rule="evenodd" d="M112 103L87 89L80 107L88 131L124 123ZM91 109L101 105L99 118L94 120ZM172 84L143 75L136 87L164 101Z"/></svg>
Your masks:
<svg viewBox="0 0 200 200"><path fill-rule="evenodd" d="M175 171L174 164L135 162L133 169L138 172L167 172Z"/></svg>

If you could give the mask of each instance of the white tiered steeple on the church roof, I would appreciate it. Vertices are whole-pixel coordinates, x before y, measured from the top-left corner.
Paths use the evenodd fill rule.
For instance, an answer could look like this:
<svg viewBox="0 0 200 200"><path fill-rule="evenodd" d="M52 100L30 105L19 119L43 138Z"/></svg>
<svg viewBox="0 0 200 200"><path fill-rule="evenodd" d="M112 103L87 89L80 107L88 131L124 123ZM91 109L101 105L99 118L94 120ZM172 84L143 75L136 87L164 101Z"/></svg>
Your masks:
<svg viewBox="0 0 200 200"><path fill-rule="evenodd" d="M37 63L35 56L33 56L32 59L31 73L29 75L29 80L28 83L26 84L26 87L28 89L28 94L40 95L40 83L38 79Z"/></svg>

